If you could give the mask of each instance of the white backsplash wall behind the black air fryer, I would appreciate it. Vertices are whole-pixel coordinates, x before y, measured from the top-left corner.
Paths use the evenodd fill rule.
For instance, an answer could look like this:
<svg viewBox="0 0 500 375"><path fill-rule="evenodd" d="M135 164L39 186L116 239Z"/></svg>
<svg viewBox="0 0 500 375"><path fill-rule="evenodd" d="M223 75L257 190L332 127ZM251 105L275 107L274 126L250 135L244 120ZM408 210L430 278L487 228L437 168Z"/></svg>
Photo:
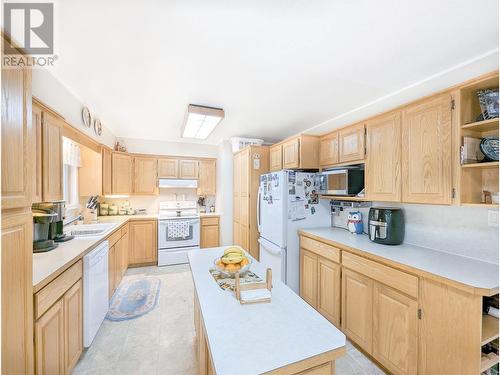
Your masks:
<svg viewBox="0 0 500 375"><path fill-rule="evenodd" d="M498 264L498 228L488 226L488 210L475 207L434 206L374 202L373 206L402 207L405 243L446 251ZM334 216L335 225L346 227L349 211ZM368 210L362 208L365 232Z"/></svg>

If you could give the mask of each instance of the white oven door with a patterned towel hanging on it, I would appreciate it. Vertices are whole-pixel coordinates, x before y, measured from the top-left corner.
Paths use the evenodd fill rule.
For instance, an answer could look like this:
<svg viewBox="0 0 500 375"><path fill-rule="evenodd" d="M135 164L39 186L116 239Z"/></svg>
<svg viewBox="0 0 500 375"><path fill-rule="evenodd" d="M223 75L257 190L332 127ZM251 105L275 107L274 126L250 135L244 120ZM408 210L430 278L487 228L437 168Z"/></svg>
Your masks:
<svg viewBox="0 0 500 375"><path fill-rule="evenodd" d="M200 219L165 219L158 221L158 248L200 245Z"/></svg>

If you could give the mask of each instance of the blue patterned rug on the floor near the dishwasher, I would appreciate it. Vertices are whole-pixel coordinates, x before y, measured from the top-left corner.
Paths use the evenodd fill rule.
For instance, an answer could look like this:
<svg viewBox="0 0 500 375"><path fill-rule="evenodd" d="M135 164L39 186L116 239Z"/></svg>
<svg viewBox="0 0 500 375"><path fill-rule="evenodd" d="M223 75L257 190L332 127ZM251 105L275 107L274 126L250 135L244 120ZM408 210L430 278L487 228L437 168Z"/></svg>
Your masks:
<svg viewBox="0 0 500 375"><path fill-rule="evenodd" d="M138 318L156 307L161 281L157 277L126 278L111 298L106 319L122 321Z"/></svg>

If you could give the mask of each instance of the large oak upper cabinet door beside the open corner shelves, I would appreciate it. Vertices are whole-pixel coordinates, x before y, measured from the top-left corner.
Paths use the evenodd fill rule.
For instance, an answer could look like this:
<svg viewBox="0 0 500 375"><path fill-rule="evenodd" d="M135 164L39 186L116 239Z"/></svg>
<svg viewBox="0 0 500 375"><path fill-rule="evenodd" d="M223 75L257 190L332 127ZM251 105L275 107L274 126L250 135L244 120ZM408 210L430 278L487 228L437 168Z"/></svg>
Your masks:
<svg viewBox="0 0 500 375"><path fill-rule="evenodd" d="M451 97L403 110L403 202L451 203Z"/></svg>

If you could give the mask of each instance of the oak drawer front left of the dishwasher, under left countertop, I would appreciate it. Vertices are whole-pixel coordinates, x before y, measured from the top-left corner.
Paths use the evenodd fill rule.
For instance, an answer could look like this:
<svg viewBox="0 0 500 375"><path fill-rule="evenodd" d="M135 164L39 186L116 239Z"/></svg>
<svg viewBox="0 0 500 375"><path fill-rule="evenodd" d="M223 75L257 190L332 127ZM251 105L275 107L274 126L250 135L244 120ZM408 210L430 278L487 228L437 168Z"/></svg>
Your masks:
<svg viewBox="0 0 500 375"><path fill-rule="evenodd" d="M35 294L35 319L52 306L78 279L82 278L82 260L79 260L59 275L54 281Z"/></svg>

